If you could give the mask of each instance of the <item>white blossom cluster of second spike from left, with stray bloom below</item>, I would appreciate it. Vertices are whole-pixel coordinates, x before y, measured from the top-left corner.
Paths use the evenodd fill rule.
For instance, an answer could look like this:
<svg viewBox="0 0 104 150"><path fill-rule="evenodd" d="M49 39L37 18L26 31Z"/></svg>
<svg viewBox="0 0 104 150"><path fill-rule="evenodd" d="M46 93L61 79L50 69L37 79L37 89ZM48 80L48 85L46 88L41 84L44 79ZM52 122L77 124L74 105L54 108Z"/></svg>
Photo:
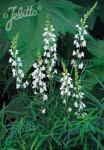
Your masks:
<svg viewBox="0 0 104 150"><path fill-rule="evenodd" d="M43 60L38 59L37 63L33 64L34 71L32 72L32 88L34 90L34 94L39 96L41 95L43 98L43 102L48 99L48 96L46 94L47 92L47 86L44 81L46 78L45 75L45 66L43 65ZM45 113L45 109L42 110L42 113Z"/></svg>

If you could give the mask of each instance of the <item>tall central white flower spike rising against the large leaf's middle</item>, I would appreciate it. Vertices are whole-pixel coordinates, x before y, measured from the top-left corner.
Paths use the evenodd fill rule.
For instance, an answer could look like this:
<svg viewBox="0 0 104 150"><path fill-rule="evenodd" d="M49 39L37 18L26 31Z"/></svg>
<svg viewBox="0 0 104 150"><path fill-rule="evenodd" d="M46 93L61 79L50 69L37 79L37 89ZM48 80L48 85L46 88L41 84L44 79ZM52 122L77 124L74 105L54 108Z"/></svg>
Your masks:
<svg viewBox="0 0 104 150"><path fill-rule="evenodd" d="M57 62L57 52L56 52L56 35L54 34L54 27L51 25L50 19L47 17L46 26L44 28L44 62L48 70L47 75L53 75L57 73L55 65Z"/></svg>

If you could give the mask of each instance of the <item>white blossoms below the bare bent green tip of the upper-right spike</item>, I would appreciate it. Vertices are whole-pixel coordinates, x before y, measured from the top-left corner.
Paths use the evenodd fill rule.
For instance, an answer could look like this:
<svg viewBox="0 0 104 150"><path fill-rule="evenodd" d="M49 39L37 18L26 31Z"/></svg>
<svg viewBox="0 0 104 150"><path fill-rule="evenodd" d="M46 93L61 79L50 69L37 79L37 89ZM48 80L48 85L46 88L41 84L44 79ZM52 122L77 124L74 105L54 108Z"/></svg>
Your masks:
<svg viewBox="0 0 104 150"><path fill-rule="evenodd" d="M75 35L75 40L74 40L74 45L75 45L75 50L73 50L73 59L71 61L71 64L73 66L75 66L75 64L79 61L80 63L78 64L78 69L83 69L84 64L83 62L81 62L81 59L84 58L84 52L82 51L83 47L86 47L86 40L85 40L85 35L88 34L88 32L86 31L86 28L88 26L81 26L81 25L76 25L76 28L78 30L78 34Z"/></svg>

